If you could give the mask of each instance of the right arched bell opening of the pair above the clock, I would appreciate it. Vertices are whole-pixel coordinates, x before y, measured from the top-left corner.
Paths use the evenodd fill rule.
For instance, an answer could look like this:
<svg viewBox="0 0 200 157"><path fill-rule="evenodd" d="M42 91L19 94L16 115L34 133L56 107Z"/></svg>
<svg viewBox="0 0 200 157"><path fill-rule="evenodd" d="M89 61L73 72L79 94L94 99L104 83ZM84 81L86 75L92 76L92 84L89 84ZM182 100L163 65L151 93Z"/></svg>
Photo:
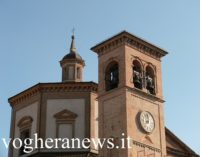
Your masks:
<svg viewBox="0 0 200 157"><path fill-rule="evenodd" d="M150 94L155 95L155 74L150 66L146 67L146 89Z"/></svg>

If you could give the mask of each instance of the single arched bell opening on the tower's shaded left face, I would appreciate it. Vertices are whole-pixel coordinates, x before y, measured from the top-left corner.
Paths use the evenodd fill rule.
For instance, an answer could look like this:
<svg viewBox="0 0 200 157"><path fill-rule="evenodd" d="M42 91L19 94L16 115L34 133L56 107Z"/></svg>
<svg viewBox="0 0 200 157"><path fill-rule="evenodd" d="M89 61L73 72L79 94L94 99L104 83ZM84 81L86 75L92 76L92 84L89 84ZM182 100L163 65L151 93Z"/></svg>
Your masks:
<svg viewBox="0 0 200 157"><path fill-rule="evenodd" d="M118 87L119 84L119 67L117 62L111 62L105 72L106 90Z"/></svg>

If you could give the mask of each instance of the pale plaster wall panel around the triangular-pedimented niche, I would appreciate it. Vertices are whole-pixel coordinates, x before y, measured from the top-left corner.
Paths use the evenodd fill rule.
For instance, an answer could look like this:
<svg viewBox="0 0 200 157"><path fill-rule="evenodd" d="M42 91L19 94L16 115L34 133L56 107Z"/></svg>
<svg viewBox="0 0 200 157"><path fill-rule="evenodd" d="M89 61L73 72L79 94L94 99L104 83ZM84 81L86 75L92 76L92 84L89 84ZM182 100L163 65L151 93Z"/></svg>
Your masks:
<svg viewBox="0 0 200 157"><path fill-rule="evenodd" d="M75 138L85 137L85 100L49 99L47 100L46 138L56 138L56 119L54 115L64 109L78 115L75 121Z"/></svg>

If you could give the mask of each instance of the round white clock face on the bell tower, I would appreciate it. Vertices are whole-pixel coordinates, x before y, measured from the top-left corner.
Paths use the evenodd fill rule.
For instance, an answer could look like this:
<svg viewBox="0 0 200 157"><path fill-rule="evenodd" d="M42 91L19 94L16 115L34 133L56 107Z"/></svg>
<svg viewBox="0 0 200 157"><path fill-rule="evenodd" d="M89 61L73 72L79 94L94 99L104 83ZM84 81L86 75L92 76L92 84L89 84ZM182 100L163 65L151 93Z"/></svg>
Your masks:
<svg viewBox="0 0 200 157"><path fill-rule="evenodd" d="M152 133L155 128L155 121L153 116L147 111L140 113L140 123L144 131L147 133Z"/></svg>

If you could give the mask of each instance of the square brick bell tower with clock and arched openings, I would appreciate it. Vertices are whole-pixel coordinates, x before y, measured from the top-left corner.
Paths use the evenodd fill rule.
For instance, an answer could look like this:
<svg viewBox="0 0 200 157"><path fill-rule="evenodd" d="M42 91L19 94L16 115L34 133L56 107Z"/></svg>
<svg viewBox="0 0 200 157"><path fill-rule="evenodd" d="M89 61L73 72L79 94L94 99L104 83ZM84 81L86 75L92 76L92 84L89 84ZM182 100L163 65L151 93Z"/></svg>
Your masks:
<svg viewBox="0 0 200 157"><path fill-rule="evenodd" d="M99 156L166 156L161 58L167 52L126 31L91 50L99 62L99 137L113 137L119 147L121 138L132 138L132 148L104 148Z"/></svg>

